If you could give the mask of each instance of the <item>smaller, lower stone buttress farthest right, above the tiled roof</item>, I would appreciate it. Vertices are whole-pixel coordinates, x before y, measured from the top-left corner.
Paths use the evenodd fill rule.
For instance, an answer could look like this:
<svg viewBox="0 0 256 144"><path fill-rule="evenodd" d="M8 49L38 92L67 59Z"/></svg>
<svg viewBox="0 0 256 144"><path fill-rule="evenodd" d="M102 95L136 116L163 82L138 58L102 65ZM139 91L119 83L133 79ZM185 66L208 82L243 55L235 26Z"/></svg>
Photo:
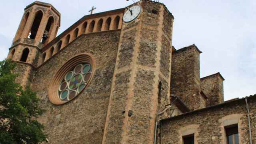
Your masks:
<svg viewBox="0 0 256 144"><path fill-rule="evenodd" d="M201 88L208 97L206 106L213 106L224 102L223 80L220 73L201 78Z"/></svg>

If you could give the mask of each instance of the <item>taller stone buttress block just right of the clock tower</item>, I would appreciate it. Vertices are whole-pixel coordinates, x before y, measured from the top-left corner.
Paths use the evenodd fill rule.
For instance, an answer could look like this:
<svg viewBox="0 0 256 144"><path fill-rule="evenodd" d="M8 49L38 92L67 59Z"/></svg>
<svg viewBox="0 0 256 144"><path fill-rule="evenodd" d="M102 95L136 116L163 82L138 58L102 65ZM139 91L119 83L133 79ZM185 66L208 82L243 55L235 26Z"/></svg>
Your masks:
<svg viewBox="0 0 256 144"><path fill-rule="evenodd" d="M200 53L195 45L172 53L171 94L179 96L191 110L204 108L200 102Z"/></svg>

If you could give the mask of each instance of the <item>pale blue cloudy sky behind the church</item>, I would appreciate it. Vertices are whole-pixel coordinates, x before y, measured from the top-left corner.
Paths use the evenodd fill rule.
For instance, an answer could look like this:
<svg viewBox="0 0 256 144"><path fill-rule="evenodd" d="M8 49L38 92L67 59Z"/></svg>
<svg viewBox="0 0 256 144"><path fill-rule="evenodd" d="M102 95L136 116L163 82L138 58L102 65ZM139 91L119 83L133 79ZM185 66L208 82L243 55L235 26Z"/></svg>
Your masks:
<svg viewBox="0 0 256 144"><path fill-rule="evenodd" d="M138 0L135 0L138 1ZM0 4L0 60L6 58L25 6L33 0ZM123 8L132 0L43 0L61 13L58 34L89 14ZM220 72L225 100L256 93L256 0L160 0L174 15L173 46L196 44L201 77Z"/></svg>

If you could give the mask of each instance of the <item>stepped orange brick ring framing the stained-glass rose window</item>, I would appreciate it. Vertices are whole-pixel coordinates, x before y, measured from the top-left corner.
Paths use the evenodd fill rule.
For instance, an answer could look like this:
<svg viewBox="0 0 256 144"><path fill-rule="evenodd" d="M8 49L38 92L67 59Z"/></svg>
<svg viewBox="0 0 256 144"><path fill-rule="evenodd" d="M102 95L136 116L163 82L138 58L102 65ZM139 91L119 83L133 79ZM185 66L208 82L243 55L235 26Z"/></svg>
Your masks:
<svg viewBox="0 0 256 144"><path fill-rule="evenodd" d="M58 70L58 72L55 74L55 76L52 78L52 80L50 82L50 86L48 89L48 98L49 98L50 102L52 102L53 104L56 104L56 105L62 105L62 104L69 102L69 101L60 100L60 98L58 96L57 90L59 88L60 81L63 79L63 77L66 75L66 73L69 72L74 66L76 66L77 64L84 63L84 62L88 63L92 66L91 79L93 78L93 75L95 72L95 61L94 61L94 58L92 57L92 55L84 53L84 54L79 54L77 56L74 56L73 58L70 58ZM88 81L88 83L90 83L91 79ZM86 89L86 87L84 89ZM83 90L80 92L80 94L82 92L83 92ZM80 94L78 94L76 97L78 97Z"/></svg>

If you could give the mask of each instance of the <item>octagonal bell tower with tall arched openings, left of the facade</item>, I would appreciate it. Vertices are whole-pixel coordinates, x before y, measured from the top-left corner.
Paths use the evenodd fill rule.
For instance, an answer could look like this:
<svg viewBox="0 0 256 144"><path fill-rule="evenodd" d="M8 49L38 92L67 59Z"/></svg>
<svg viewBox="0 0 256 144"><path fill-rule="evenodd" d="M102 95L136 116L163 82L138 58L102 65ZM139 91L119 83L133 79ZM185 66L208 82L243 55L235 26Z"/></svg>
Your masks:
<svg viewBox="0 0 256 144"><path fill-rule="evenodd" d="M53 40L60 27L60 12L51 4L33 2L26 6L20 25L9 48L9 59L19 66L20 82L25 86L33 67L37 67L41 49Z"/></svg>

